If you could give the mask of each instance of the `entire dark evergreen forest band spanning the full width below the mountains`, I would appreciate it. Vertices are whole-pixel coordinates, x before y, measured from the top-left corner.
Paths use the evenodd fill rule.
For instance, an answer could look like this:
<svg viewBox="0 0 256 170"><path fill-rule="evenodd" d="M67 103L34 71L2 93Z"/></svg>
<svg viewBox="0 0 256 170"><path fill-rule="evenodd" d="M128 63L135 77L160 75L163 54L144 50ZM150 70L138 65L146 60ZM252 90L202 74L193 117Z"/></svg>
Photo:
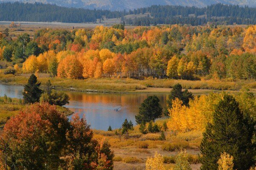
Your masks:
<svg viewBox="0 0 256 170"><path fill-rule="evenodd" d="M134 11L89 10L83 8L65 8L43 3L0 3L1 21L31 21L31 22L96 22L97 19L122 18L130 25L156 24L190 24L203 25L208 22L232 25L255 24L256 8L238 5L215 4L205 8L153 5L138 8ZM139 14L148 16L141 17ZM126 17L135 14L137 17ZM147 14L147 13L146 13Z"/></svg>

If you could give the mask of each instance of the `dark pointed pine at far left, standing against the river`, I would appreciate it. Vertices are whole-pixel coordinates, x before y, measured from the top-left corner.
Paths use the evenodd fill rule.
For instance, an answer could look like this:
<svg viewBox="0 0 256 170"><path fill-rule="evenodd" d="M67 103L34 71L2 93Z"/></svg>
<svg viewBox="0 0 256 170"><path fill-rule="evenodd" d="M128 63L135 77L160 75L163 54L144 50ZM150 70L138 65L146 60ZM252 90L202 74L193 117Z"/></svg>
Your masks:
<svg viewBox="0 0 256 170"><path fill-rule="evenodd" d="M25 104L38 102L43 91L39 88L41 83L37 83L34 74L28 79L28 84L24 86L23 100Z"/></svg>

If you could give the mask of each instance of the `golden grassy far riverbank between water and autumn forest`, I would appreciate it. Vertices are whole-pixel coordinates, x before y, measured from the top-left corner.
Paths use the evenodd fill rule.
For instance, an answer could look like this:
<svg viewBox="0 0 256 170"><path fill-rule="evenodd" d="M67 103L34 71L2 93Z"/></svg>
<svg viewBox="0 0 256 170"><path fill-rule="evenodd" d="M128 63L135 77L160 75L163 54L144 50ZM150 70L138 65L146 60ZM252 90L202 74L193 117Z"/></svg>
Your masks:
<svg viewBox="0 0 256 170"><path fill-rule="evenodd" d="M0 83L12 85L25 85L30 74L5 75L0 74ZM191 90L192 93L210 93L218 90L236 91L242 88L250 88L251 91L256 89L256 81L239 80L231 81L213 81L213 80L174 80L174 79L85 79L72 80L49 77L48 74L37 74L38 81L42 87L47 80L51 80L52 85L59 90L71 90L80 92L97 92L97 93L169 93L171 88L180 83L183 88Z"/></svg>

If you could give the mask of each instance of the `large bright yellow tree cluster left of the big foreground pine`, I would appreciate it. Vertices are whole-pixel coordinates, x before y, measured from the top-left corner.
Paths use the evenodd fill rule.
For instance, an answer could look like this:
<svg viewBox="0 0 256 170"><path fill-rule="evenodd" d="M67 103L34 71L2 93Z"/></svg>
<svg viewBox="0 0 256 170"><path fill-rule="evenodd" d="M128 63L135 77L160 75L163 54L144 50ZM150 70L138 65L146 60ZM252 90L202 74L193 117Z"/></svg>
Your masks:
<svg viewBox="0 0 256 170"><path fill-rule="evenodd" d="M205 126L212 119L214 105L219 102L223 94L210 93L189 101L189 106L182 106L182 101L175 99L173 107L169 109L170 121L167 126L170 130L190 132L204 131Z"/></svg>

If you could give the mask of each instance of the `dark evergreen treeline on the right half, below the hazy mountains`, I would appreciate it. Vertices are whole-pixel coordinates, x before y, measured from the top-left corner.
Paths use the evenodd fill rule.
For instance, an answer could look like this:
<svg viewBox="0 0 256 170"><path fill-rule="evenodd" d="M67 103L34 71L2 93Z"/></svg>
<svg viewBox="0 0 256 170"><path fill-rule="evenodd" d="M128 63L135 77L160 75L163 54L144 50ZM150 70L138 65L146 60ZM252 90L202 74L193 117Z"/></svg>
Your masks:
<svg viewBox="0 0 256 170"><path fill-rule="evenodd" d="M255 24L256 8L238 5L214 4L205 8L183 7L171 5L153 5L147 8L139 8L129 11L129 14L150 13L151 17L137 17L125 19L132 25L156 25L156 24L191 24L203 25L208 22L215 24L232 25Z"/></svg>

